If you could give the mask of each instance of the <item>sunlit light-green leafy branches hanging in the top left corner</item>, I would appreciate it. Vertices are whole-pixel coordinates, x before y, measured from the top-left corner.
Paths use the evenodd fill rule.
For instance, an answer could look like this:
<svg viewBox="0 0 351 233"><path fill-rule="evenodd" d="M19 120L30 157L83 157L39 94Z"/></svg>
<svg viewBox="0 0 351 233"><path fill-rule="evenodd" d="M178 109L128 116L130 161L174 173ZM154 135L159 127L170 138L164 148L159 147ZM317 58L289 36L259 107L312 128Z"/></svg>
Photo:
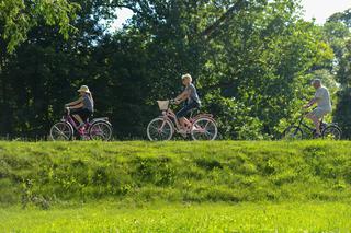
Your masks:
<svg viewBox="0 0 351 233"><path fill-rule="evenodd" d="M27 32L41 21L47 25L58 25L59 33L68 38L68 34L75 30L70 21L75 19L78 9L78 4L67 0L1 1L1 37L8 44L8 51L12 53L19 44L26 40Z"/></svg>

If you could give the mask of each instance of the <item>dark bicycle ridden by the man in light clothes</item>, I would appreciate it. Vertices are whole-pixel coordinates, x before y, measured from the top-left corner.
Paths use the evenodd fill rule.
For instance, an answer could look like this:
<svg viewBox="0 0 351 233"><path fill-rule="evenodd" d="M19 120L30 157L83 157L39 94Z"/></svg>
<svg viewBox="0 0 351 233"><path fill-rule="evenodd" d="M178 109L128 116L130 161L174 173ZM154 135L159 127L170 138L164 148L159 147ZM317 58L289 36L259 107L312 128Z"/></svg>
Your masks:
<svg viewBox="0 0 351 233"><path fill-rule="evenodd" d="M297 118L295 123L288 126L284 132L284 139L295 139L301 140L304 138L313 138L316 133L316 129L314 127L308 126L305 119L306 113L302 113L302 115ZM297 124L296 124L297 123ZM324 123L322 118L319 124L321 138L331 139L331 140L340 140L341 139L341 129L335 123ZM309 136L309 137L307 137Z"/></svg>

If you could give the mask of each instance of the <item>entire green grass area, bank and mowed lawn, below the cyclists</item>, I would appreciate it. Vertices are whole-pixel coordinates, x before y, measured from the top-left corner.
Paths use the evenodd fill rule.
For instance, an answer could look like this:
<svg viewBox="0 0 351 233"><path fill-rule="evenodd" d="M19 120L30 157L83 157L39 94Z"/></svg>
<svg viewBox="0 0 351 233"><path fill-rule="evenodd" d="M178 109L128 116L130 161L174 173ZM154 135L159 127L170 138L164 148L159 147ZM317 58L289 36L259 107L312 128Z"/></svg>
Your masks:
<svg viewBox="0 0 351 233"><path fill-rule="evenodd" d="M351 142L0 142L0 232L350 232Z"/></svg>

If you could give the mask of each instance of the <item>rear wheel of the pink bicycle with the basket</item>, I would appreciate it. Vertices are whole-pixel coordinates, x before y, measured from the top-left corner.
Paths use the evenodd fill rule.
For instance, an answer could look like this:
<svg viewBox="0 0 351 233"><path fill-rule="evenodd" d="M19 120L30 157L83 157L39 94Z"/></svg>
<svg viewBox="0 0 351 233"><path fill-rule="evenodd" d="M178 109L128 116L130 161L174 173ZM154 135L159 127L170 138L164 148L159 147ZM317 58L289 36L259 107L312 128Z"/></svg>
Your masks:
<svg viewBox="0 0 351 233"><path fill-rule="evenodd" d="M191 138L193 140L215 140L217 138L218 129L216 123L211 118L199 118L194 121L191 130Z"/></svg>

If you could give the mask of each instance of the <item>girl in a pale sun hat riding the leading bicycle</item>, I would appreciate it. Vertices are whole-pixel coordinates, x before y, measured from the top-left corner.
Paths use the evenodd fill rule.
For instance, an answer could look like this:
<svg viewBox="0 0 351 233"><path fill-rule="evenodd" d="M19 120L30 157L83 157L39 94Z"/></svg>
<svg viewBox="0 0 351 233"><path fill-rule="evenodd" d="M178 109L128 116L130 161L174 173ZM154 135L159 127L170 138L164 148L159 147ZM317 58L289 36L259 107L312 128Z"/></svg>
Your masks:
<svg viewBox="0 0 351 233"><path fill-rule="evenodd" d="M77 101L66 104L65 107L69 107L70 114L79 123L78 128L82 128L87 119L94 112L94 101L87 85L80 86L78 92L80 97Z"/></svg>

